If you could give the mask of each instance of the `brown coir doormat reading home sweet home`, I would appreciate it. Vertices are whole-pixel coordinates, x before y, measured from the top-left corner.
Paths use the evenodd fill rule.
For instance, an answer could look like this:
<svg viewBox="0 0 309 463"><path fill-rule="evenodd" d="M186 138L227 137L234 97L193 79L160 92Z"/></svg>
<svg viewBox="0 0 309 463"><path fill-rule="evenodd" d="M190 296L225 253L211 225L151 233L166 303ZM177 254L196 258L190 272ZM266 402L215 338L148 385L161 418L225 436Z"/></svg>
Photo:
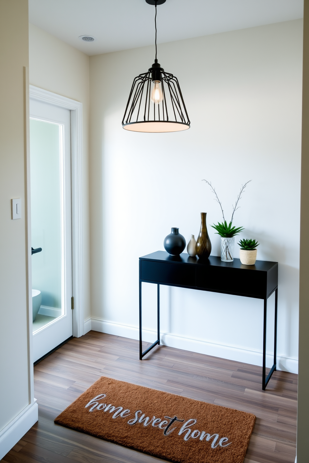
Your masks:
<svg viewBox="0 0 309 463"><path fill-rule="evenodd" d="M243 463L251 413L102 376L55 423L181 463Z"/></svg>

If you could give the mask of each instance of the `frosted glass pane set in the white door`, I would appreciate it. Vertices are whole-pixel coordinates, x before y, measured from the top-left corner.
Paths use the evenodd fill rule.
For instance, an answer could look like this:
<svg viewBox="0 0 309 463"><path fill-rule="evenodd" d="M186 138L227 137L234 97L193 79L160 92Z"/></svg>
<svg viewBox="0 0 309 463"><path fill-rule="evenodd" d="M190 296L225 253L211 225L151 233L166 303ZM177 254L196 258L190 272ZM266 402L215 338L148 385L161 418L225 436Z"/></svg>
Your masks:
<svg viewBox="0 0 309 463"><path fill-rule="evenodd" d="M63 313L63 218L60 150L63 126L30 119L32 288L41 291L37 329Z"/></svg>

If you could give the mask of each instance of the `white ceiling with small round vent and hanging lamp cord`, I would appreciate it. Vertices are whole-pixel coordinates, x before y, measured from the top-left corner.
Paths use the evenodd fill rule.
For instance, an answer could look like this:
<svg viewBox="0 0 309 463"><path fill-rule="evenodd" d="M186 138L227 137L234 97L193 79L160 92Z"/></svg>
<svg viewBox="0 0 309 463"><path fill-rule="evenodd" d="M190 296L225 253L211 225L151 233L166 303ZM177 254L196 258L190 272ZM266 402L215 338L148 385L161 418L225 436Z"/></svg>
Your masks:
<svg viewBox="0 0 309 463"><path fill-rule="evenodd" d="M166 0L158 43L298 19L303 0ZM29 21L87 55L154 43L155 7L145 0L29 0ZM95 42L78 37L89 34Z"/></svg>

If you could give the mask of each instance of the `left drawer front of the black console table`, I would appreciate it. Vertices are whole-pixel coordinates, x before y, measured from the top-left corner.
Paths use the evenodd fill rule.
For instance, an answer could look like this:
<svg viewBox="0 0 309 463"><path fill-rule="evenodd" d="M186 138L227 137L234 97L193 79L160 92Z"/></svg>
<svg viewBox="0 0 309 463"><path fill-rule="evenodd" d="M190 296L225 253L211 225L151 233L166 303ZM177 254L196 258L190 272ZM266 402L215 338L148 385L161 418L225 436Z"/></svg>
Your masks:
<svg viewBox="0 0 309 463"><path fill-rule="evenodd" d="M195 286L195 267L177 263L141 261L141 279L168 285Z"/></svg>

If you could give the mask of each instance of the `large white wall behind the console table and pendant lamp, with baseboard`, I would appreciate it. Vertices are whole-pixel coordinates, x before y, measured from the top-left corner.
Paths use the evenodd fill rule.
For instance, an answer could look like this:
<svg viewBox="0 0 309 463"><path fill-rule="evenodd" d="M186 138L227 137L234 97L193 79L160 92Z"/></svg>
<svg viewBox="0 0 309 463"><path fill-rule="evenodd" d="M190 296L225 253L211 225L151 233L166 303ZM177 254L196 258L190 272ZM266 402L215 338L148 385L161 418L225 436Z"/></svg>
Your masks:
<svg viewBox="0 0 309 463"><path fill-rule="evenodd" d="M88 329L137 338L139 256L163 250L172 226L187 241L196 237L200 212L220 255L209 225L221 211L202 179L213 182L227 216L252 179L234 225L260 241L258 259L279 262L279 367L297 371L302 34L295 20L160 44L159 63L178 77L191 119L178 133L121 127L153 46L90 57ZM261 364L262 301L161 288L166 344ZM155 305L156 288L143 284L145 340L155 339Z"/></svg>

